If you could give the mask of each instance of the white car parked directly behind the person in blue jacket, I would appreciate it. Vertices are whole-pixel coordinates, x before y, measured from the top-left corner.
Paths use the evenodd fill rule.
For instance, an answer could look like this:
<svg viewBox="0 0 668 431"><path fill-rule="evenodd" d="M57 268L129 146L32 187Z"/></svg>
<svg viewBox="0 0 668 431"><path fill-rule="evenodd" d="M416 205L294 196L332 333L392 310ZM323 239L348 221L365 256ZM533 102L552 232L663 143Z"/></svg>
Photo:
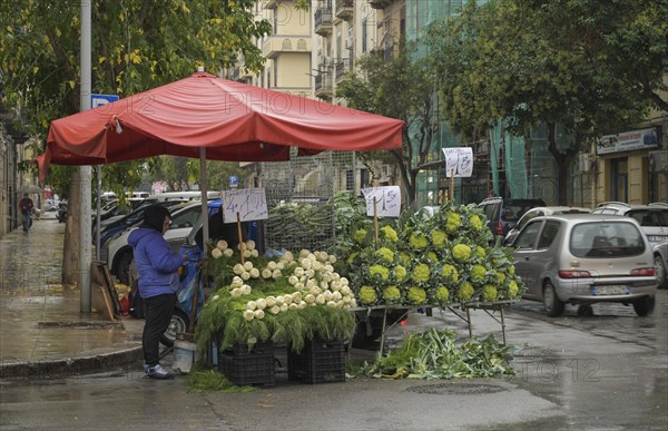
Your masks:
<svg viewBox="0 0 668 431"><path fill-rule="evenodd" d="M170 207L169 212L171 213L171 226L165 233L165 239L167 239L171 249L178 252L193 229L193 226L196 226L199 222L202 203L191 202L176 205ZM108 243L107 265L109 272L126 285L130 283L130 263L134 259L132 247L128 244L128 236L140 224L141 222L117 234Z"/></svg>

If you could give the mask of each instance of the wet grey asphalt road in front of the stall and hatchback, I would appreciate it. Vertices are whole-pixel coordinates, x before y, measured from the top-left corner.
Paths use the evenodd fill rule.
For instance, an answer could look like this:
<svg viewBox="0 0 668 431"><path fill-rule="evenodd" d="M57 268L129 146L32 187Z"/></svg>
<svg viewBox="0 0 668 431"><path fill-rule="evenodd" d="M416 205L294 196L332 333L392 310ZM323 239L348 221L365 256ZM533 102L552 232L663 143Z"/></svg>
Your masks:
<svg viewBox="0 0 668 431"><path fill-rule="evenodd" d="M190 393L184 378L151 381L138 368L92 376L0 383L4 430L460 430L668 429L668 292L657 310L595 305L558 319L539 304L505 313L508 342L524 345L503 379L282 383L249 393ZM474 333L499 331L474 316ZM391 336L465 327L451 313L412 314Z"/></svg>

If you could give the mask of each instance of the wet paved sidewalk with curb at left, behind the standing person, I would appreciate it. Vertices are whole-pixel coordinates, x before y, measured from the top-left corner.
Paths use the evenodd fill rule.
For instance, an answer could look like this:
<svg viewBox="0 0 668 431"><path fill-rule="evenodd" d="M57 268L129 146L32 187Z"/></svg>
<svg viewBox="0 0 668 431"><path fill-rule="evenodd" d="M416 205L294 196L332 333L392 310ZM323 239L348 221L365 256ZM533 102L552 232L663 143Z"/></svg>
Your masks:
<svg viewBox="0 0 668 431"><path fill-rule="evenodd" d="M81 313L61 278L65 224L56 213L0 239L0 379L95 372L141 357L144 321Z"/></svg>

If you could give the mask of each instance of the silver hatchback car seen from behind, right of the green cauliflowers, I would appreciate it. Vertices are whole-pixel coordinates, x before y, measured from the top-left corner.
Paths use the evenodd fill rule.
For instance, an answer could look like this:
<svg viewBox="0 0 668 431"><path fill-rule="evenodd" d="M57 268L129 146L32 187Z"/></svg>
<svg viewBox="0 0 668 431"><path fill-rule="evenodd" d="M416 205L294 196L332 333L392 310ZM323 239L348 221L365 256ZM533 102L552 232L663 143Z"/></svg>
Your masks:
<svg viewBox="0 0 668 431"><path fill-rule="evenodd" d="M515 274L524 297L548 315L566 304L619 302L640 316L654 310L658 280L652 248L638 222L599 214L536 217L514 241Z"/></svg>

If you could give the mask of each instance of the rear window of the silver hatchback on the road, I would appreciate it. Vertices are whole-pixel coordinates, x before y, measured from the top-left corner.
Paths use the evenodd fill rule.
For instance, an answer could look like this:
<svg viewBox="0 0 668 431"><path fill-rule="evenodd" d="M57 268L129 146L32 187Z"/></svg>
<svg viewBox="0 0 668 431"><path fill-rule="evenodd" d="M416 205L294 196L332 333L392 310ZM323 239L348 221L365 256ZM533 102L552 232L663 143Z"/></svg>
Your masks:
<svg viewBox="0 0 668 431"><path fill-rule="evenodd" d="M645 252L645 241L632 223L580 223L571 231L570 252L577 257L637 256Z"/></svg>

